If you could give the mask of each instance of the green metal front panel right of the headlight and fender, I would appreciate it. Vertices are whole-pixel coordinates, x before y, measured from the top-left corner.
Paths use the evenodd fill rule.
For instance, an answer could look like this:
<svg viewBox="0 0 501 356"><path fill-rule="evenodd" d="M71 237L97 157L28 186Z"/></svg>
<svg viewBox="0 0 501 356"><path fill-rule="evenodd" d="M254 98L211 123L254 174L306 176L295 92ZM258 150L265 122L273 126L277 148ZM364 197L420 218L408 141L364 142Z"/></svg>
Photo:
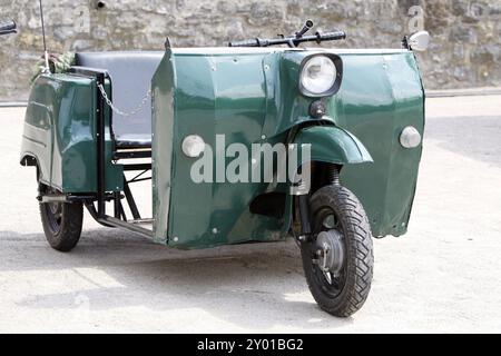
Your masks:
<svg viewBox="0 0 501 356"><path fill-rule="evenodd" d="M402 129L424 130L424 95L412 52L343 55L344 78L328 112L370 151L374 164L346 166L342 182L362 201L374 236L405 234L422 146L405 149Z"/></svg>

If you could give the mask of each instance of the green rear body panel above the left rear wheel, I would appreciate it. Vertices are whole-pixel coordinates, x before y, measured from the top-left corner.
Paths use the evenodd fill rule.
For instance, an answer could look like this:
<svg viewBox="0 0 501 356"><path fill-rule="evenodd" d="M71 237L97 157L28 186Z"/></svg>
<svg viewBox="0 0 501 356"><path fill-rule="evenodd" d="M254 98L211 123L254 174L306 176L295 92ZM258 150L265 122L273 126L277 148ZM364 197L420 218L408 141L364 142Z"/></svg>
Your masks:
<svg viewBox="0 0 501 356"><path fill-rule="evenodd" d="M106 186L119 191L122 168L111 164L109 115L107 109ZM95 192L96 151L96 82L70 75L40 76L26 111L21 160L35 157L41 181L62 192Z"/></svg>

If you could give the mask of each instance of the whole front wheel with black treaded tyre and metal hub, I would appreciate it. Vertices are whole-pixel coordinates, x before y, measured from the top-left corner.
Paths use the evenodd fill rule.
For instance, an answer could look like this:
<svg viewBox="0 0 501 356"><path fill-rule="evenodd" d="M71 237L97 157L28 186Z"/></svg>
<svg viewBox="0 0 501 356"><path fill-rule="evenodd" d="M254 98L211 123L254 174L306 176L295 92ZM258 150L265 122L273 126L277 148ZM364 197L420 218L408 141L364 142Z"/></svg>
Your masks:
<svg viewBox="0 0 501 356"><path fill-rule="evenodd" d="M318 189L310 202L313 235L301 247L306 281L322 309L347 317L362 307L371 289L369 220L353 192L338 185Z"/></svg>

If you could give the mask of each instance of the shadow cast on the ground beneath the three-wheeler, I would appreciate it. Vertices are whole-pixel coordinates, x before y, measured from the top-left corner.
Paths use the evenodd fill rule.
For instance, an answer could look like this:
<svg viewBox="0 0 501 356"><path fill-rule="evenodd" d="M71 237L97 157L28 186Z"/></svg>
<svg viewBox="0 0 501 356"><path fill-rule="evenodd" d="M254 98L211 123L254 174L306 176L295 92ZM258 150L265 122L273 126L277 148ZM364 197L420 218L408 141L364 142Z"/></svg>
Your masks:
<svg viewBox="0 0 501 356"><path fill-rule="evenodd" d="M271 320L295 320L305 328L351 323L316 306L294 241L181 251L130 233L94 229L84 231L73 251L61 254L50 249L41 234L1 231L0 236L10 250L18 245L0 271L63 270L65 278L86 285L78 293L21 297L18 305L24 308L71 310L84 298L90 310L143 307L179 313L196 308L255 329L272 327Z"/></svg>

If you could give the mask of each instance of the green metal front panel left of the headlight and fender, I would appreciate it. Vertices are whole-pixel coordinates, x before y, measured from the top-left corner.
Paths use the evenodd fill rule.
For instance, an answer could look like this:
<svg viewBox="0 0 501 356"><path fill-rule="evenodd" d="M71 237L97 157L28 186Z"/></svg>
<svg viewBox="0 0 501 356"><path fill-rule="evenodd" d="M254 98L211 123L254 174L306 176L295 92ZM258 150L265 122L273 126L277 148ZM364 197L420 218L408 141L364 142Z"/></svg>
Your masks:
<svg viewBox="0 0 501 356"><path fill-rule="evenodd" d="M248 210L252 199L264 192L267 184L195 184L190 178L195 159L181 152L183 138L193 134L202 136L213 148L216 147L218 134L226 136L226 146L240 142L250 149L253 142L261 141L265 118L262 55L179 55L171 59L175 73L174 136L170 136L167 123L173 117L173 106L168 103L173 101L169 98L173 91L168 89L171 85L160 83L163 72L170 76L166 60L154 79L154 148L161 150L160 155L167 155L166 146L160 141L168 145L169 140L164 136L173 137L170 187L168 179L163 177L167 167L160 168L157 152L154 164L156 217L165 217L166 207L159 200L170 195L168 244L179 248L200 248L281 238L282 225L278 220L252 215ZM165 227L163 222L157 222L155 236L159 241L166 238Z"/></svg>

